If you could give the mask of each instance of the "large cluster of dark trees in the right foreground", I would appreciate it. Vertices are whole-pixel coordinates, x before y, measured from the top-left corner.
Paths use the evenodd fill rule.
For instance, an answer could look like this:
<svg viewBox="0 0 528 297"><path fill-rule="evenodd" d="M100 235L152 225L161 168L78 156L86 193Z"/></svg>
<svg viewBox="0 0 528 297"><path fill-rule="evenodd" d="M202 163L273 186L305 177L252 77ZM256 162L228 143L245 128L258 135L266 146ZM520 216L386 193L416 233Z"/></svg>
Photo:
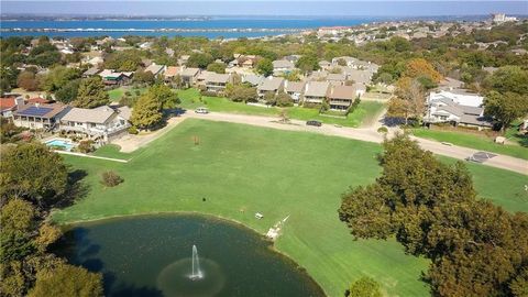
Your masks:
<svg viewBox="0 0 528 297"><path fill-rule="evenodd" d="M431 260L436 296L526 296L528 215L477 197L462 163L447 165L406 135L384 143L376 183L343 195L339 218L355 239L395 238Z"/></svg>

